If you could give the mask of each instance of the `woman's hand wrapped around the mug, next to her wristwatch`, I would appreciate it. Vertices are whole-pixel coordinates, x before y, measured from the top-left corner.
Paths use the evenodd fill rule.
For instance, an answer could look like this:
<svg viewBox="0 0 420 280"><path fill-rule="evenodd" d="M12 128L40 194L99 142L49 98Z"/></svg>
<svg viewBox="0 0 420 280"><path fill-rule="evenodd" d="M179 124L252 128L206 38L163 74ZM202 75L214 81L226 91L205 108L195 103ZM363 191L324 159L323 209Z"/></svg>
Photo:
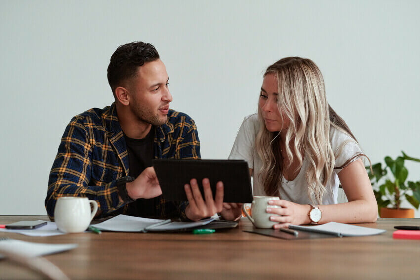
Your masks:
<svg viewBox="0 0 420 280"><path fill-rule="evenodd" d="M268 205L276 205L281 208L267 207L267 213L277 214L280 216L270 216L270 221L278 222L274 225L275 229L287 228L290 224L302 225L309 224L308 213L312 209L311 205L301 205L286 200L269 200Z"/></svg>

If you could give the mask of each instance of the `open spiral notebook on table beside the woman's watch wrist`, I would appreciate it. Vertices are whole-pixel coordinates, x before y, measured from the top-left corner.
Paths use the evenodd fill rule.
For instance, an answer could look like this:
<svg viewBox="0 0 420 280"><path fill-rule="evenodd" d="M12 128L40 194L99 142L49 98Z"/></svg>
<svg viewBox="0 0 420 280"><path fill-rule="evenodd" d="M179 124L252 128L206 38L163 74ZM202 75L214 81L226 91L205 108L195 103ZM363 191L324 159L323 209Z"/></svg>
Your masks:
<svg viewBox="0 0 420 280"><path fill-rule="evenodd" d="M360 226L342 224L342 223L336 223L336 222L329 222L329 223L318 225L318 226L290 225L289 229L323 233L323 234L335 235L338 237L377 235L377 234L386 232L386 230L360 227Z"/></svg>

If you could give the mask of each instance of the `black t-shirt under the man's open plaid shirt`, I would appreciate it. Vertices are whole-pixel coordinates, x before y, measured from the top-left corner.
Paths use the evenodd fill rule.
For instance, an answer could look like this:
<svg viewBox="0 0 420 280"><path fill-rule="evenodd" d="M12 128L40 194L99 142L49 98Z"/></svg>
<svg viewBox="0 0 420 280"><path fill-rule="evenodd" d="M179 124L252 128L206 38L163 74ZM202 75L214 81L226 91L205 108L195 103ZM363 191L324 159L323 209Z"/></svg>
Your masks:
<svg viewBox="0 0 420 280"><path fill-rule="evenodd" d="M132 139L124 134L127 144L130 176L137 178L147 167L152 166L155 127L143 139ZM126 215L146 218L159 218L156 211L161 196L152 199L137 199L128 205Z"/></svg>

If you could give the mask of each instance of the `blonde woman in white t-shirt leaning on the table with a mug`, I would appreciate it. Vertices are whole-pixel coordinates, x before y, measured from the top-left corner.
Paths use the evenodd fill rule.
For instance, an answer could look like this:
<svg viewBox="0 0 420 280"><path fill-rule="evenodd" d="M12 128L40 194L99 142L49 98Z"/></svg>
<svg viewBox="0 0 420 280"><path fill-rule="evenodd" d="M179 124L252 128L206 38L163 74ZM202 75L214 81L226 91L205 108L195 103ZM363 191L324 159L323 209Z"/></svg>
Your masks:
<svg viewBox="0 0 420 280"><path fill-rule="evenodd" d="M287 57L267 68L258 113L245 118L229 159L248 162L254 195L280 197L269 204L281 208L267 208L280 228L376 221L361 157L356 138L327 103L318 67ZM348 203L337 204L340 183Z"/></svg>

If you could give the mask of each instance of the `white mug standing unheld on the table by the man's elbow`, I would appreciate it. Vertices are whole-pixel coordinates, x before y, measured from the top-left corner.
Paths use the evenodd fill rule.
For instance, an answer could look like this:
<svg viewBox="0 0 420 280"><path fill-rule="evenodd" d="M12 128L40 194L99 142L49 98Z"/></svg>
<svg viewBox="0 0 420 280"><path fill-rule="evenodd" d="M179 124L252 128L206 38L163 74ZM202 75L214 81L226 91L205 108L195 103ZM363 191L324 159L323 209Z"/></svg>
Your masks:
<svg viewBox="0 0 420 280"><path fill-rule="evenodd" d="M93 205L93 211L90 211L90 204ZM61 197L55 204L55 223L62 232L84 232L97 211L98 203L95 200L84 197Z"/></svg>

